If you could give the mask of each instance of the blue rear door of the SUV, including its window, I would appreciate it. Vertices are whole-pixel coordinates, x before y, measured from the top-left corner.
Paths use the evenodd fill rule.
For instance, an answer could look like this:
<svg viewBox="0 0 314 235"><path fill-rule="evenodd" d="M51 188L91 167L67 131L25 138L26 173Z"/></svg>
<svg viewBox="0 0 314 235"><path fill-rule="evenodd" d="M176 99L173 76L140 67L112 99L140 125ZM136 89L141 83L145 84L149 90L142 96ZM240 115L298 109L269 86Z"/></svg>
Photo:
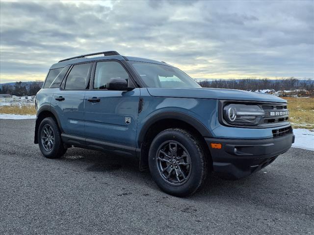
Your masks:
<svg viewBox="0 0 314 235"><path fill-rule="evenodd" d="M89 88L91 69L92 63L72 66L60 90L53 94L51 105L65 134L84 138L84 96Z"/></svg>

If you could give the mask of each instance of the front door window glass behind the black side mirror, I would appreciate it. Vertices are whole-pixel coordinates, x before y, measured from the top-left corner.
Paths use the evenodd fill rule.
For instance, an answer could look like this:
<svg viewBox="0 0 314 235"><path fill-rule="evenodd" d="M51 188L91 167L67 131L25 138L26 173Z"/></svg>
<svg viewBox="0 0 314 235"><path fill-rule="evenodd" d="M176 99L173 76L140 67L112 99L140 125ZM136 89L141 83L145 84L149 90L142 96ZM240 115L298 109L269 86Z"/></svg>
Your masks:
<svg viewBox="0 0 314 235"><path fill-rule="evenodd" d="M98 62L95 71L94 89L106 89L110 78L124 78L129 81L129 74L119 62Z"/></svg>

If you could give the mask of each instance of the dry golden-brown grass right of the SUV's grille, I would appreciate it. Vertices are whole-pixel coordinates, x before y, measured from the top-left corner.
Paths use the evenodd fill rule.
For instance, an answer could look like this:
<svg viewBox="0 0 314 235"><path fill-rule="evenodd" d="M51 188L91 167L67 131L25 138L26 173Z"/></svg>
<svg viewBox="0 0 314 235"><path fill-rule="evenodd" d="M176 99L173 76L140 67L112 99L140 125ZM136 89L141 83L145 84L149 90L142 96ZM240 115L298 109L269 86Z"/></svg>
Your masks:
<svg viewBox="0 0 314 235"><path fill-rule="evenodd" d="M314 129L314 98L283 98L288 101L292 127Z"/></svg>

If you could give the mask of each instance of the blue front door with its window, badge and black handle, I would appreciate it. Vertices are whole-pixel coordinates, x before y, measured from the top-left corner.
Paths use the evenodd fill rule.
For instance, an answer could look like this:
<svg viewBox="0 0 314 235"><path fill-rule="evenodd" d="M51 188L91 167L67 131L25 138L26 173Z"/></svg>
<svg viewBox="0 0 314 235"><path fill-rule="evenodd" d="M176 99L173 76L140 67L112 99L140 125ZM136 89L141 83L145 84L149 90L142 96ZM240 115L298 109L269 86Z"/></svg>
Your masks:
<svg viewBox="0 0 314 235"><path fill-rule="evenodd" d="M119 61L101 61L91 76L91 89L85 94L85 135L88 140L135 146L140 89L110 91L110 78L124 78L133 86L130 74ZM97 144L97 141L90 141ZM103 143L99 142L100 145Z"/></svg>

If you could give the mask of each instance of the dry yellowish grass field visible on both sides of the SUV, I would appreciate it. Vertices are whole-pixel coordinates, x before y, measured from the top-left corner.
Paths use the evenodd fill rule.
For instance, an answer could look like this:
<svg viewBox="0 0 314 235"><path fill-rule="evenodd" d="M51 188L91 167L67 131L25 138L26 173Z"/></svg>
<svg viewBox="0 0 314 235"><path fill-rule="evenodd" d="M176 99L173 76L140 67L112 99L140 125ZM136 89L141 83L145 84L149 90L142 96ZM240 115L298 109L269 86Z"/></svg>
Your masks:
<svg viewBox="0 0 314 235"><path fill-rule="evenodd" d="M293 128L314 129L314 98L284 97L288 101ZM35 115L34 105L1 105L1 114Z"/></svg>

